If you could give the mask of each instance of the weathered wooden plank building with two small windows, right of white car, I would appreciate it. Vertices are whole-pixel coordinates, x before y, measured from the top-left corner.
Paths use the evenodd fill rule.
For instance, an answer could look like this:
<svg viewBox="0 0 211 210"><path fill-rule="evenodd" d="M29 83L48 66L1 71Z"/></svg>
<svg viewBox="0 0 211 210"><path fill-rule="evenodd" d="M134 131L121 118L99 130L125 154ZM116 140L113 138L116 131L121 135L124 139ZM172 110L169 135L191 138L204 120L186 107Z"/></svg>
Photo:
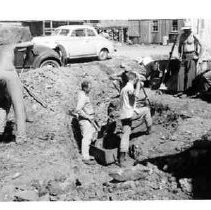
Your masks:
<svg viewBox="0 0 211 210"><path fill-rule="evenodd" d="M172 42L183 25L183 19L129 20L128 36L135 44L161 44L165 36Z"/></svg>

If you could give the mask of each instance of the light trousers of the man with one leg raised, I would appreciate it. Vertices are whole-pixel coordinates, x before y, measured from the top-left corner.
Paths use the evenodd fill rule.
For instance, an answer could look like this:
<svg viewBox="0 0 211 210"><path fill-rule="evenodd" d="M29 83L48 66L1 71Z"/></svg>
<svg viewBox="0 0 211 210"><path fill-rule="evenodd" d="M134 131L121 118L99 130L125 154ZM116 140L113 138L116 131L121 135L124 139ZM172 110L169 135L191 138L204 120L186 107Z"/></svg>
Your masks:
<svg viewBox="0 0 211 210"><path fill-rule="evenodd" d="M123 134L121 136L120 152L128 152L129 150L129 141L133 118L143 119L146 123L147 128L152 126L152 117L150 109L148 107L136 109L132 118L122 119L121 122Z"/></svg>

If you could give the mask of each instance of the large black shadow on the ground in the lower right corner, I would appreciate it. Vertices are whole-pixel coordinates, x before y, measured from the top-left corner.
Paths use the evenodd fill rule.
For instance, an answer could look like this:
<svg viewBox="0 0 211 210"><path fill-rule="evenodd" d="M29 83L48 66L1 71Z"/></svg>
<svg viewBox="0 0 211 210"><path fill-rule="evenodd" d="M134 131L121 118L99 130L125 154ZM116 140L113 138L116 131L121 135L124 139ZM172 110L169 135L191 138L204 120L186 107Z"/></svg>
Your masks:
<svg viewBox="0 0 211 210"><path fill-rule="evenodd" d="M209 132L211 134L211 131ZM157 165L160 170L172 174L178 185L179 180L191 180L193 199L211 199L211 139L203 136L196 140L193 146L181 153L140 161Z"/></svg>

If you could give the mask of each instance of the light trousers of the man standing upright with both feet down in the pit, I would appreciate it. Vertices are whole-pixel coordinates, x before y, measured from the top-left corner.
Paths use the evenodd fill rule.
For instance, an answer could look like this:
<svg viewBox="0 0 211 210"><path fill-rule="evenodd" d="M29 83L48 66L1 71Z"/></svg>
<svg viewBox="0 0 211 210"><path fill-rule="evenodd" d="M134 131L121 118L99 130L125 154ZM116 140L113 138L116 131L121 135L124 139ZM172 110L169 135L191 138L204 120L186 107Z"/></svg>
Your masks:
<svg viewBox="0 0 211 210"><path fill-rule="evenodd" d="M79 120L79 125L81 128L81 134L83 136L81 144L82 157L85 160L89 160L89 147L93 140L96 130L94 126L89 122L89 120Z"/></svg>

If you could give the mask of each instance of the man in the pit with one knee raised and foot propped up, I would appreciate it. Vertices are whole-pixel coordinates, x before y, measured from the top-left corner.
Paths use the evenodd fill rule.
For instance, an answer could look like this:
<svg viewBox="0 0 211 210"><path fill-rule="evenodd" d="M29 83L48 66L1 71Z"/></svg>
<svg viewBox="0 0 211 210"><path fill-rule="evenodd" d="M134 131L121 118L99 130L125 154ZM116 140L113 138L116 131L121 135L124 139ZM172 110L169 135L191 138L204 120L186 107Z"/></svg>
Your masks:
<svg viewBox="0 0 211 210"><path fill-rule="evenodd" d="M134 89L134 86L136 88ZM132 121L134 119L144 119L147 126L147 134L152 127L152 118L148 107L136 107L136 99L139 95L141 82L137 79L135 72L128 73L128 82L120 93L120 119L122 122L122 137L120 143L120 166L124 166L126 154L129 150L129 138L131 134Z"/></svg>

